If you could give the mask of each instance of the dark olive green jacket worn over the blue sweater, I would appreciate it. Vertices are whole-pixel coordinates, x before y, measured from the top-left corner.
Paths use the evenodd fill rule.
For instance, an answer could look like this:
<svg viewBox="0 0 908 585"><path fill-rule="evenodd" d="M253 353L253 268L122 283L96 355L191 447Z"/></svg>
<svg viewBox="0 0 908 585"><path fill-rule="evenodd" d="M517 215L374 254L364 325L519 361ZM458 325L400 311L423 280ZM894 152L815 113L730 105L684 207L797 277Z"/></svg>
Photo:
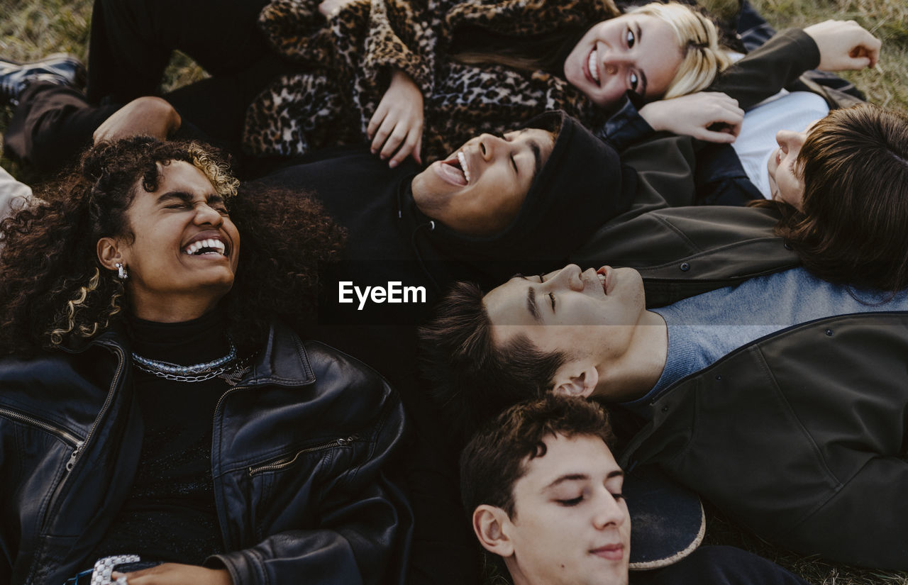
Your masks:
<svg viewBox="0 0 908 585"><path fill-rule="evenodd" d="M656 210L600 229L574 259L640 268L655 307L797 266L775 219L754 208ZM908 313L788 327L650 406L622 466L658 464L778 545L908 569Z"/></svg>

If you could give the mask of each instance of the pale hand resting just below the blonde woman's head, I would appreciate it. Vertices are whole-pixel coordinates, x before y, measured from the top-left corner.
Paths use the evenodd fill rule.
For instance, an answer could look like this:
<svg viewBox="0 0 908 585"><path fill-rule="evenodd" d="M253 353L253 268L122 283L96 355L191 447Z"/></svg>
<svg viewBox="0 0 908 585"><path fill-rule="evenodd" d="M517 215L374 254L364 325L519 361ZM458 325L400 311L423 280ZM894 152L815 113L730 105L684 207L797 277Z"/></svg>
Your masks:
<svg viewBox="0 0 908 585"><path fill-rule="evenodd" d="M640 116L656 131L693 136L701 141L734 142L741 131L744 110L725 93L699 92L649 102L640 109Z"/></svg>

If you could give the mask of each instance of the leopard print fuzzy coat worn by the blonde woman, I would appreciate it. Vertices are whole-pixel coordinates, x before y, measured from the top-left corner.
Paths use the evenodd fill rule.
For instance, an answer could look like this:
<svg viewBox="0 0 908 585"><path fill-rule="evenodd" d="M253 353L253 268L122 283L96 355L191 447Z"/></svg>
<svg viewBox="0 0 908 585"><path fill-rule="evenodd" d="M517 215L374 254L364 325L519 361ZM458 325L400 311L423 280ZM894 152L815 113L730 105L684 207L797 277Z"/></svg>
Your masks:
<svg viewBox="0 0 908 585"><path fill-rule="evenodd" d="M252 102L243 136L252 154L365 144L394 68L422 91L426 162L546 110L565 110L589 127L605 122L604 112L558 76L452 62L446 50L461 24L545 34L617 15L611 0L355 0L327 22L318 4L274 0L262 10L259 21L271 46L306 73L282 76Z"/></svg>

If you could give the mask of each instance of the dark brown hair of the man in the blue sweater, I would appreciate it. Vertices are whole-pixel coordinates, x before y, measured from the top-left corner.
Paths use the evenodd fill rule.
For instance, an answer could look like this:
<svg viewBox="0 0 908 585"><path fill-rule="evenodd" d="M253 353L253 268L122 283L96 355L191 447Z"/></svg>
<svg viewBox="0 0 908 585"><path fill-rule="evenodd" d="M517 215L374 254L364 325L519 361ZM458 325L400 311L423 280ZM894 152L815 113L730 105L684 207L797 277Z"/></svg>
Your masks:
<svg viewBox="0 0 908 585"><path fill-rule="evenodd" d="M422 373L463 441L509 405L545 394L568 357L540 351L527 336L497 346L482 297L478 285L459 282L419 328Z"/></svg>

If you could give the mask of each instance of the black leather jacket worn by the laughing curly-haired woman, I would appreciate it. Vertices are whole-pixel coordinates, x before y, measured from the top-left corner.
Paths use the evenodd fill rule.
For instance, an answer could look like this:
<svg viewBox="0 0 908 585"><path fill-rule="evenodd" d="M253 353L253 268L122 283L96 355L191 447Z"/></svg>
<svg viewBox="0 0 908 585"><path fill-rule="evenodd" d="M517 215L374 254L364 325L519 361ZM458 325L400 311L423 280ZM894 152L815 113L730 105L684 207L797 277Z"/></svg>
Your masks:
<svg viewBox="0 0 908 585"><path fill-rule="evenodd" d="M0 360L0 583L83 569L128 493L143 429L123 341L107 332L77 354ZM378 374L272 326L215 410L214 498L232 552L206 566L236 585L402 580L411 512L382 468L402 433Z"/></svg>

